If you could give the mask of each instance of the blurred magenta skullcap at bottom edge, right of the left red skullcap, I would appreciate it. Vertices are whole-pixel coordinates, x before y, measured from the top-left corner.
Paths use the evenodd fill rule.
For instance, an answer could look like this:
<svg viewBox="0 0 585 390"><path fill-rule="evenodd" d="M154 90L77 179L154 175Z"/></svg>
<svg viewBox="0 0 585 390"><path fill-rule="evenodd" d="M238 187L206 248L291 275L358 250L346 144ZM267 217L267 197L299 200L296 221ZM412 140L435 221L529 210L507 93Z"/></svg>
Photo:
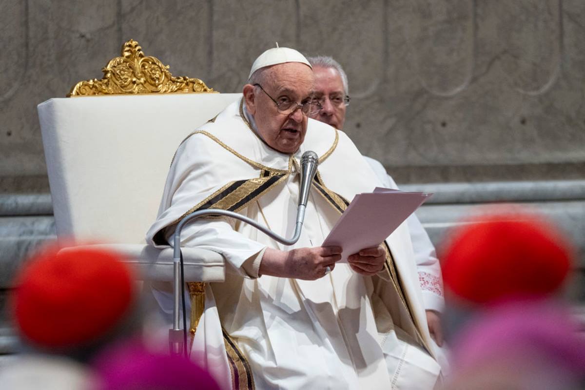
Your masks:
<svg viewBox="0 0 585 390"><path fill-rule="evenodd" d="M183 356L147 351L129 343L102 354L94 364L98 390L219 390L207 371Z"/></svg>

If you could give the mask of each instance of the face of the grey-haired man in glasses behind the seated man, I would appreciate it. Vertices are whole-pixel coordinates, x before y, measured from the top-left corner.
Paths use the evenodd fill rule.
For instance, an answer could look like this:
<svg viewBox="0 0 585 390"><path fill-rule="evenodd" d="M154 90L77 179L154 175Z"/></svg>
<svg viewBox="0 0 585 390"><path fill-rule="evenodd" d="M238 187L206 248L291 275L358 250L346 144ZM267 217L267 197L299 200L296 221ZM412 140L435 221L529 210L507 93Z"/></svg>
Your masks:
<svg viewBox="0 0 585 390"><path fill-rule="evenodd" d="M345 101L343 101L345 91L341 75L335 68L324 67L313 67L313 73L315 75L315 98L322 102L323 109L315 115L311 115L311 118L342 130L343 123L345 123L346 106Z"/></svg>

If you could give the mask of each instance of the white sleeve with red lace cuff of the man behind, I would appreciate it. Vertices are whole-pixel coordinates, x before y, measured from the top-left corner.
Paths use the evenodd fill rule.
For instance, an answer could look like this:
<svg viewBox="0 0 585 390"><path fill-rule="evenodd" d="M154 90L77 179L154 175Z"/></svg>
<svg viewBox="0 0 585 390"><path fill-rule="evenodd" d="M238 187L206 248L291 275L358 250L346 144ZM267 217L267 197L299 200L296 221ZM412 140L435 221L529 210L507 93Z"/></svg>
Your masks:
<svg viewBox="0 0 585 390"><path fill-rule="evenodd" d="M386 173L384 166L373 158L364 156L384 187L398 189L393 178ZM417 216L413 213L407 218L408 231L412 240L414 259L417 263L418 278L421 283L422 300L425 310L442 312L445 306L441 280L441 265L436 257L435 246Z"/></svg>

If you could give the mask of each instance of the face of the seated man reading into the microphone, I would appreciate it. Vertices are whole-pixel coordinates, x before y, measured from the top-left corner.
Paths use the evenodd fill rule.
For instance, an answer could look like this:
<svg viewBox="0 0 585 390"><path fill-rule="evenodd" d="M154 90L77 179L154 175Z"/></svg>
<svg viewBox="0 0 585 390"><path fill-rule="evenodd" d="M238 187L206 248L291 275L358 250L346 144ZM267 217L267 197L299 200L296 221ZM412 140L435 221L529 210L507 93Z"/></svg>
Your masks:
<svg viewBox="0 0 585 390"><path fill-rule="evenodd" d="M285 63L274 65L266 71L260 87L246 84L246 107L254 116L258 133L271 148L282 153L294 153L301 146L307 133L307 116L300 109L289 115L278 112L275 101L285 100L306 103L311 101L313 72L305 64Z"/></svg>

